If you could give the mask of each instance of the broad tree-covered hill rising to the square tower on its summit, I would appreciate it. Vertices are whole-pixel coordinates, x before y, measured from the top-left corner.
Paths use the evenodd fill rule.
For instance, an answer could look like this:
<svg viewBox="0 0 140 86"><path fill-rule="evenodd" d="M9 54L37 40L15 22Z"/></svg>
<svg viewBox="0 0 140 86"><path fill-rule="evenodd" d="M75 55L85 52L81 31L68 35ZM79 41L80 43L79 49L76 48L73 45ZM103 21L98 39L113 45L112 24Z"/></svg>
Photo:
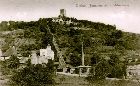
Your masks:
<svg viewBox="0 0 140 86"><path fill-rule="evenodd" d="M7 22L6 24L5 22L4 25L1 23L2 50L6 51L9 46L13 45L19 52L44 48L52 41L49 30L56 38L59 48L65 52L64 58L73 56L80 59L82 41L84 42L85 58L93 57L94 54L102 54L106 57L114 52L120 55L126 50L139 49L139 34L122 32L115 26L99 22L68 17L64 17L63 20L71 20L72 23L54 22L53 18L43 18L31 22L10 21L12 23Z"/></svg>

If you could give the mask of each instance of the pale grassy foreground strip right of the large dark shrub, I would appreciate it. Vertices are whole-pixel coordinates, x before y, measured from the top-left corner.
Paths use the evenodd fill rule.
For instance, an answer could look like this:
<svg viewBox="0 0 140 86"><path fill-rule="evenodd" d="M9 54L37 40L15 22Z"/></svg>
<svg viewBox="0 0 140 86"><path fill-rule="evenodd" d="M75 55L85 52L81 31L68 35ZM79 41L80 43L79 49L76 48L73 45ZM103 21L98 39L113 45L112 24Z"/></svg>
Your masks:
<svg viewBox="0 0 140 86"><path fill-rule="evenodd" d="M103 80L89 83L82 77L66 75L58 75L56 83L56 86L140 86L139 82L130 80Z"/></svg>

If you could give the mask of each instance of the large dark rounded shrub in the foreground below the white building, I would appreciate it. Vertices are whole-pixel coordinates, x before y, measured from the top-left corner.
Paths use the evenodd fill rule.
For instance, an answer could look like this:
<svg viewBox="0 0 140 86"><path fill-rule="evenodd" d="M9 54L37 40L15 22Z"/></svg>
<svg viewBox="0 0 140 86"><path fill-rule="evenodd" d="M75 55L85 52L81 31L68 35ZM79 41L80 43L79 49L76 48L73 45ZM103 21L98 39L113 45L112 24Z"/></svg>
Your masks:
<svg viewBox="0 0 140 86"><path fill-rule="evenodd" d="M52 64L30 65L16 72L11 80L19 86L45 86L54 84Z"/></svg>

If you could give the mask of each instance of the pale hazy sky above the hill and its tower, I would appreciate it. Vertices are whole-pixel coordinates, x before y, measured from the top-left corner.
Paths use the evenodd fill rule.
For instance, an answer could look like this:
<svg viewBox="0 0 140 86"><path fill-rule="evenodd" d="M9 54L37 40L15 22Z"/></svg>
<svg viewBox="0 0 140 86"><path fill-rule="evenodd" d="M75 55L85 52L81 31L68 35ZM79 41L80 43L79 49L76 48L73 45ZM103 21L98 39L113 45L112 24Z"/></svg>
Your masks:
<svg viewBox="0 0 140 86"><path fill-rule="evenodd" d="M0 21L57 17L60 9L66 9L68 17L140 33L140 0L0 0Z"/></svg>

